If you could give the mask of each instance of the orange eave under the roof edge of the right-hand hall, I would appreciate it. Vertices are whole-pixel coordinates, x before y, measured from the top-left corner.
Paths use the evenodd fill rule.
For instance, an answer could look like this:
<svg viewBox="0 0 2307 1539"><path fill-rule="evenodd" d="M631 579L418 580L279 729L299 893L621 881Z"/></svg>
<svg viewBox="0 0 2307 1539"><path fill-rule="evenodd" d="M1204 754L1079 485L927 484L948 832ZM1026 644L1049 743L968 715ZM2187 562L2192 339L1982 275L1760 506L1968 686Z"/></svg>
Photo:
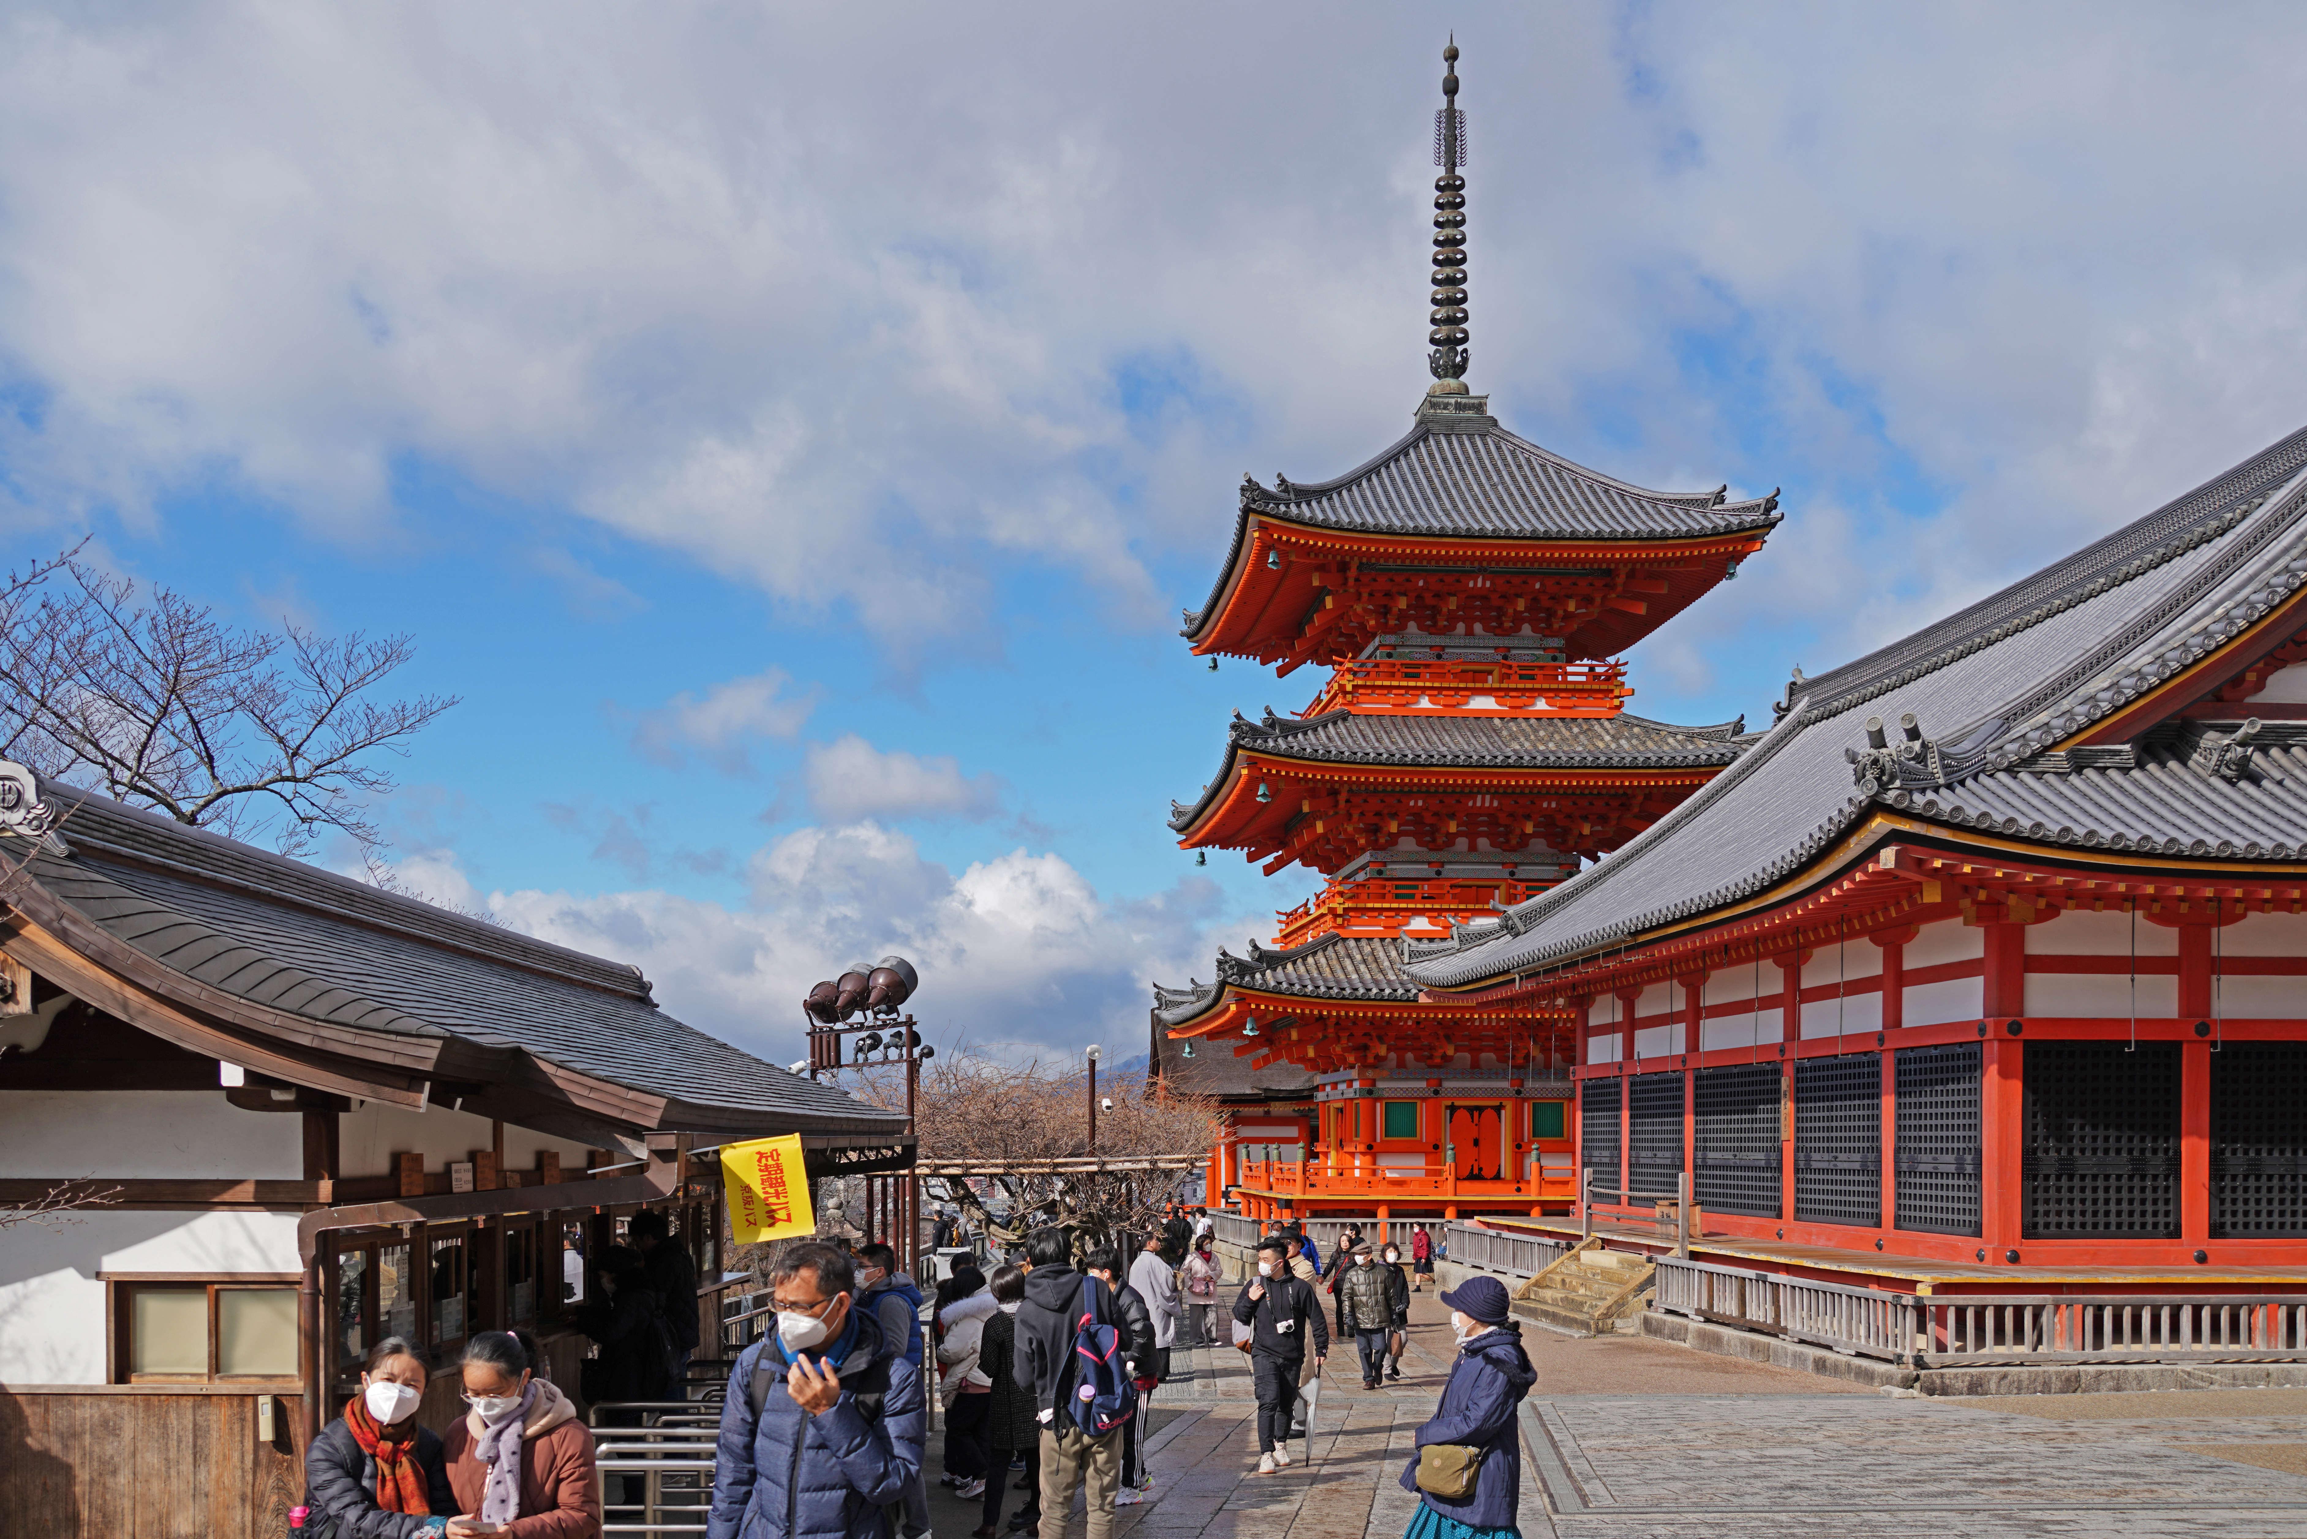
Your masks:
<svg viewBox="0 0 2307 1539"><path fill-rule="evenodd" d="M1956 898L1949 898L1947 888L1954 888ZM2122 900L2171 900L2282 907L2298 914L2307 907L2307 870L2277 861L2205 865L2185 856L2113 849L2060 849L2053 854L2026 840L1876 812L1809 870L1765 893L1624 937L1546 969L1506 978L1493 976L1460 988L1426 988L1419 992L1419 1001L1504 1004L1530 997L1592 997L1608 988L1746 964L1756 955L1809 951L1836 934L1857 939L1885 928L1896 930L1947 918L1961 911L1959 893L1963 891L2067 900L2056 907L2083 900L2095 907ZM1862 916L1864 928L1839 928L1850 925L1853 916ZM2162 916L2146 914L2146 918ZM1813 932L1806 934L1804 925L1811 925Z"/></svg>

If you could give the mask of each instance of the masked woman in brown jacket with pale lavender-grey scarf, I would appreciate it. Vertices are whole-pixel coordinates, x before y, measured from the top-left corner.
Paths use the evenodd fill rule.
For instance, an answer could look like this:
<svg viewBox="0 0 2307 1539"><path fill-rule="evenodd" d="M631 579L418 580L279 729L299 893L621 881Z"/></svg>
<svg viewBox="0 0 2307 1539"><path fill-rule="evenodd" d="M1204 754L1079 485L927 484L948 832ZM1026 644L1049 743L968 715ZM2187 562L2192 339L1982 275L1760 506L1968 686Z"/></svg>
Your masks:
<svg viewBox="0 0 2307 1539"><path fill-rule="evenodd" d="M461 1518L450 1539L600 1539L593 1433L526 1331L482 1331L464 1347L464 1417L441 1440Z"/></svg>

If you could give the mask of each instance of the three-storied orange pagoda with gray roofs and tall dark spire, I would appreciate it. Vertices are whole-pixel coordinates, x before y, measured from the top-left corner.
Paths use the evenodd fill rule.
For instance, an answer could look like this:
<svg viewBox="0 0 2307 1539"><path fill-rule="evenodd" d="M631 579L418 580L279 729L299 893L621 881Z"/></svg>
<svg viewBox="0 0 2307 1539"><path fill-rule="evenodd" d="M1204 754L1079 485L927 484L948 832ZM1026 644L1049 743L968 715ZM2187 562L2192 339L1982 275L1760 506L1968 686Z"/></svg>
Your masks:
<svg viewBox="0 0 2307 1539"><path fill-rule="evenodd" d="M1276 946L1156 990L1154 1064L1216 1094L1209 1200L1253 1214L1534 1214L1576 1193L1562 1008L1423 1004L1410 939L1548 891L1728 766L1744 722L1624 711L1617 655L1737 575L1776 496L1668 494L1497 425L1470 395L1458 48L1435 115L1430 371L1410 436L1327 482L1243 478L1197 655L1329 669L1297 718L1234 715L1172 828L1320 870Z"/></svg>

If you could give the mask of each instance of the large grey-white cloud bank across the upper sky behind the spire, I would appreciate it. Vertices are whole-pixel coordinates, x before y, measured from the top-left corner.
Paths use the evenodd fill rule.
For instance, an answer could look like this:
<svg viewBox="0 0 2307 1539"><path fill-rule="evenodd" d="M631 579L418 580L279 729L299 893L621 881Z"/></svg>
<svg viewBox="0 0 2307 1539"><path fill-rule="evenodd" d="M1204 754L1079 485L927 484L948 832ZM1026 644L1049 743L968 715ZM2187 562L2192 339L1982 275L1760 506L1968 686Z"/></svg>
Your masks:
<svg viewBox="0 0 2307 1539"><path fill-rule="evenodd" d="M897 653L997 648L1017 563L1160 625L1246 464L1407 422L1437 28L1006 18L18 7L0 496L224 478L355 538L418 459ZM1765 618L1823 667L2307 418L2298 7L1460 32L1476 385L1631 480L1799 487L1693 658Z"/></svg>

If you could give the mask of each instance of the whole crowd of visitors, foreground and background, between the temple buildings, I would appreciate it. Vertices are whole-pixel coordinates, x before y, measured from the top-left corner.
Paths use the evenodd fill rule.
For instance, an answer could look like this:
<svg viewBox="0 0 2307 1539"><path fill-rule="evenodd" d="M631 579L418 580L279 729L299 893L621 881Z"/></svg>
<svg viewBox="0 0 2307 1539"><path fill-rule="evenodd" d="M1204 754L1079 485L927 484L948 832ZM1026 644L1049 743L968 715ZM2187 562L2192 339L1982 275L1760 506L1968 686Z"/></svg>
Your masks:
<svg viewBox="0 0 2307 1539"><path fill-rule="evenodd" d="M598 1343L584 1398L681 1398L697 1311L664 1301L697 1294L694 1269L662 1216L634 1216L628 1234L630 1248L598 1262L600 1297L579 1306ZM1255 1276L1234 1283L1200 1209L1172 1207L1130 1255L1050 1225L987 1260L990 1274L964 1251L937 1285L925 1345L923 1292L891 1246L787 1244L764 1276L775 1329L729 1375L706 1534L925 1539L937 1394L941 1479L978 1502L971 1539L1038 1539L1043 1516L1064 1523L1077 1488L1087 1537L1110 1539L1114 1511L1151 1491L1147 1410L1177 1345L1248 1357L1257 1474L1276 1474L1306 1435L1303 1384L1333 1343L1354 1343L1366 1391L1403 1377L1410 1297L1433 1258L1423 1225L1410 1230L1407 1258L1361 1225L1324 1258L1303 1230L1273 1223L1257 1239ZM1400 1477L1419 1495L1405 1539L1502 1539L1516 1532L1520 1497L1516 1407L1536 1373L1502 1283L1474 1276L1442 1304L1458 1357ZM542 1368L521 1331L473 1336L459 1364L466 1410L434 1435L413 1419L427 1391L422 1354L381 1341L360 1394L311 1442L314 1527L346 1539L595 1539L593 1433ZM616 1417L611 1405L600 1419ZM1024 1500L1004 1527L1013 1474Z"/></svg>

